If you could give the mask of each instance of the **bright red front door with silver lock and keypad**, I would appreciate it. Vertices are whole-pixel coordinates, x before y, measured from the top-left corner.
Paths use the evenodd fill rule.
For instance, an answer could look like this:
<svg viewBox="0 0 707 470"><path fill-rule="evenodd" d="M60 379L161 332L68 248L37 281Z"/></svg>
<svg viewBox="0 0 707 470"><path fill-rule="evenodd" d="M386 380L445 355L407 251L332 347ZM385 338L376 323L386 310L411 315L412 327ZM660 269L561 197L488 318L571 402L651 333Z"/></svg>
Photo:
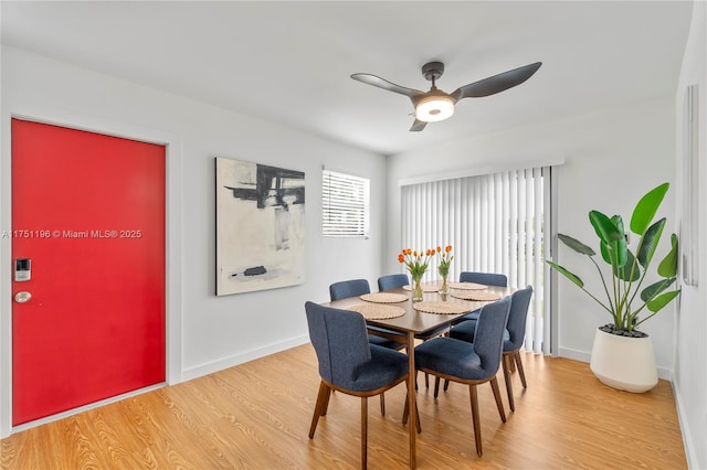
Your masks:
<svg viewBox="0 0 707 470"><path fill-rule="evenodd" d="M163 146L12 119L11 235L13 425L165 381Z"/></svg>

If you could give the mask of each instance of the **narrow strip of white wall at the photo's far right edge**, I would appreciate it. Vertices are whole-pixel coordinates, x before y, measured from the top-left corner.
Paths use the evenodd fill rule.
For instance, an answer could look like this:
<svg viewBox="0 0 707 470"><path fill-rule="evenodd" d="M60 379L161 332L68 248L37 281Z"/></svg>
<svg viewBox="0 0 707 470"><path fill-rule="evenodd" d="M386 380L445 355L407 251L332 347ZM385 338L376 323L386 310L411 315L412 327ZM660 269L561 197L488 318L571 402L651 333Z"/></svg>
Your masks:
<svg viewBox="0 0 707 470"><path fill-rule="evenodd" d="M685 87L698 86L698 287L683 286L676 318L674 388L690 468L707 469L707 3L695 2L675 98L677 181L683 179ZM682 215L683 201L677 202Z"/></svg>

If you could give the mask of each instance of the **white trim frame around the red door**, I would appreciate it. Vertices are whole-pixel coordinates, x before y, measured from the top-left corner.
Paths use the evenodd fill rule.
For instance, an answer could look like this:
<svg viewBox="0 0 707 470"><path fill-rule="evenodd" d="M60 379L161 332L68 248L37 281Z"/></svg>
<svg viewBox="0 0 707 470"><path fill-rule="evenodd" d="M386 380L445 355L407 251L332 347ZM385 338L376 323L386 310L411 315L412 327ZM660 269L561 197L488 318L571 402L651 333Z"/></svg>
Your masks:
<svg viewBox="0 0 707 470"><path fill-rule="evenodd" d="M12 226L12 118L50 124L89 132L139 140L165 146L165 324L166 382L182 381L181 373L181 212L182 212L182 143L175 132L130 122L84 115L70 110L19 108L2 114L0 148L0 233L11 233ZM12 432L12 239L0 238L0 438Z"/></svg>

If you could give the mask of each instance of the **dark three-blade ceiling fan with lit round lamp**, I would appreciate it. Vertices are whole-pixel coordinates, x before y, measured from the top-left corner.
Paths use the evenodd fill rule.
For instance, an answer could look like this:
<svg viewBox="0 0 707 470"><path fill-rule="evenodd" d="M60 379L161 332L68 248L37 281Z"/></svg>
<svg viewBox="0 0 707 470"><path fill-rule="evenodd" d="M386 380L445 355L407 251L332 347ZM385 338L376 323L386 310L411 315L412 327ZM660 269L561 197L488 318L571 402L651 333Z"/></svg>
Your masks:
<svg viewBox="0 0 707 470"><path fill-rule="evenodd" d="M424 129L428 122L435 122L451 117L454 114L454 105L460 99L481 98L513 88L530 78L540 68L540 65L542 65L542 62L514 68L513 71L461 86L453 93L444 93L436 87L437 78L444 73L444 64L442 62L429 62L422 66L422 76L432 82L432 87L429 92L395 85L371 74L352 74L351 78L409 97L415 108L415 121L410 130L420 131Z"/></svg>

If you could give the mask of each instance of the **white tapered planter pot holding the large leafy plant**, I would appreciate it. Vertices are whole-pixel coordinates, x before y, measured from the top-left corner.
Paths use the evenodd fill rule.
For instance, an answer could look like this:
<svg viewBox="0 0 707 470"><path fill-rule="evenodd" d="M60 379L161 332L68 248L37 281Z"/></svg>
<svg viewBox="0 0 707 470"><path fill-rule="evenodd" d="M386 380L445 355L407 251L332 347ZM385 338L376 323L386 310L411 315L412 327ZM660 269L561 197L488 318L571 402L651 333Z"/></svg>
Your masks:
<svg viewBox="0 0 707 470"><path fill-rule="evenodd" d="M597 329L590 368L603 384L643 393L658 383L650 337L629 338Z"/></svg>

